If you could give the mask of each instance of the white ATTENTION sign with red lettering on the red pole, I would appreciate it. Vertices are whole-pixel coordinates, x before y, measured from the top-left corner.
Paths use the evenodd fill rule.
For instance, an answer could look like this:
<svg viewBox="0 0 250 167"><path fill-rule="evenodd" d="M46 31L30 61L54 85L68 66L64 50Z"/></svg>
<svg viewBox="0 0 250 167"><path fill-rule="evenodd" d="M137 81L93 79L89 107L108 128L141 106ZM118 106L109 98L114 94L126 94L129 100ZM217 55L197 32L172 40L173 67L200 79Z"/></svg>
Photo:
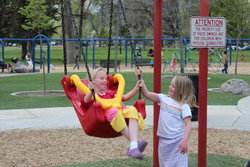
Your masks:
<svg viewBox="0 0 250 167"><path fill-rule="evenodd" d="M226 19L221 17L191 17L190 45L195 48L226 46Z"/></svg>

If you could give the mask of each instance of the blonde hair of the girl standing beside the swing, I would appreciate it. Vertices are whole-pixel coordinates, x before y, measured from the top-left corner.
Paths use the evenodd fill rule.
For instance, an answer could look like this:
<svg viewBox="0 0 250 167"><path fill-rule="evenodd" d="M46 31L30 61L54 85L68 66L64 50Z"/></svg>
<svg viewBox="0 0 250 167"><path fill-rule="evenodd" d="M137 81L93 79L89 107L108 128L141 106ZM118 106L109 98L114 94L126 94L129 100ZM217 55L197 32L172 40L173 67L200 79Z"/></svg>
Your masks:
<svg viewBox="0 0 250 167"><path fill-rule="evenodd" d="M175 85L174 99L180 104L187 103L190 107L197 107L193 82L186 76L175 76L173 82Z"/></svg>

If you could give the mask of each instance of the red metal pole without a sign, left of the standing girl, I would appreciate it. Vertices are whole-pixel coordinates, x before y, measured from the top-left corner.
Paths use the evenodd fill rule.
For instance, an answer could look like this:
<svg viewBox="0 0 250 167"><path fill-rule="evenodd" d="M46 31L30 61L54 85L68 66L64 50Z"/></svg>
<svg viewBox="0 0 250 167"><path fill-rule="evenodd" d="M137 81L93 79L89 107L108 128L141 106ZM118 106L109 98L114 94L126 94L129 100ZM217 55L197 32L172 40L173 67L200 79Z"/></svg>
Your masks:
<svg viewBox="0 0 250 167"><path fill-rule="evenodd" d="M161 34L162 29L162 0L155 0L154 6L154 92L161 92ZM159 137L156 135L160 107L154 103L154 145L153 145L153 166L158 167L158 145Z"/></svg>

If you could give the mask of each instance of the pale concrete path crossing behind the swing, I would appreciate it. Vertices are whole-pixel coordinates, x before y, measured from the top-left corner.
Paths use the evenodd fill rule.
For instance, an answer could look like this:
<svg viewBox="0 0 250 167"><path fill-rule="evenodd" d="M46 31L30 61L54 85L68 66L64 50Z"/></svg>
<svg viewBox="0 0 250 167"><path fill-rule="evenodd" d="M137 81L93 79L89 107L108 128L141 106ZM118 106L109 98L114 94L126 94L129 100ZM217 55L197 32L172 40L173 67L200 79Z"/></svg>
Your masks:
<svg viewBox="0 0 250 167"><path fill-rule="evenodd" d="M250 96L241 99L237 106L208 106L208 128L250 131ZM145 124L153 126L153 106L146 106ZM193 122L197 127L198 122ZM0 110L0 131L13 129L79 128L80 123L73 107Z"/></svg>

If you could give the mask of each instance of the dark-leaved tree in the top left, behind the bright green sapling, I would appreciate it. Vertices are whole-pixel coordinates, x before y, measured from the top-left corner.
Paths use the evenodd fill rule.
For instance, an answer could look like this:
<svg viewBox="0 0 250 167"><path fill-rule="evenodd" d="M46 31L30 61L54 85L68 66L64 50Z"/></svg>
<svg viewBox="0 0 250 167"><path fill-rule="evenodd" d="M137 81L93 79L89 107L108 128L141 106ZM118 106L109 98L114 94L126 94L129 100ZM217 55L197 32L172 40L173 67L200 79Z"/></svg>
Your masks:
<svg viewBox="0 0 250 167"><path fill-rule="evenodd" d="M57 8L55 5L56 0L47 0L46 4L48 9L46 15L52 17L54 20L57 20L56 17ZM32 38L37 33L32 30L24 30L21 25L25 24L26 17L20 14L18 11L21 7L28 5L27 0L0 0L0 34L1 38ZM46 35L53 34L55 32L54 27L43 31ZM27 53L27 43L29 41L20 41L19 44L22 45L22 54L21 57L24 57ZM30 50L30 49L29 49Z"/></svg>

